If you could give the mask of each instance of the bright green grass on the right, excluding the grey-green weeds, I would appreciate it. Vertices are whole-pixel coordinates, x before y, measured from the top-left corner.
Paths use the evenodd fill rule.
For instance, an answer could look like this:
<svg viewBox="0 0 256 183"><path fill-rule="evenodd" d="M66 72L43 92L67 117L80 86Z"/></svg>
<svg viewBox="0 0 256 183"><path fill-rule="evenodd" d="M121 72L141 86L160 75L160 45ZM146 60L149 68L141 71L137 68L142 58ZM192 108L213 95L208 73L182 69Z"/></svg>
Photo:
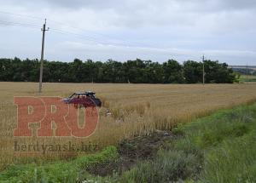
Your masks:
<svg viewBox="0 0 256 183"><path fill-rule="evenodd" d="M175 148L204 154L198 180L256 182L256 105L218 112L176 131L184 137Z"/></svg>

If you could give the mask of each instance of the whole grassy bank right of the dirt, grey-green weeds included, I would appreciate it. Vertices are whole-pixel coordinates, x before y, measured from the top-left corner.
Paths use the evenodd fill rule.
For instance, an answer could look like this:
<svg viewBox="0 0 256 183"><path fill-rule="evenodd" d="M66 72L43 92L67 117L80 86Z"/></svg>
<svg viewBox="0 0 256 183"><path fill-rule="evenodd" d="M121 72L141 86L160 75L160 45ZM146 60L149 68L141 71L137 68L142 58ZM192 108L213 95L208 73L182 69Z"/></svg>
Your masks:
<svg viewBox="0 0 256 183"><path fill-rule="evenodd" d="M256 182L256 105L217 112L172 132L177 140L121 182Z"/></svg>

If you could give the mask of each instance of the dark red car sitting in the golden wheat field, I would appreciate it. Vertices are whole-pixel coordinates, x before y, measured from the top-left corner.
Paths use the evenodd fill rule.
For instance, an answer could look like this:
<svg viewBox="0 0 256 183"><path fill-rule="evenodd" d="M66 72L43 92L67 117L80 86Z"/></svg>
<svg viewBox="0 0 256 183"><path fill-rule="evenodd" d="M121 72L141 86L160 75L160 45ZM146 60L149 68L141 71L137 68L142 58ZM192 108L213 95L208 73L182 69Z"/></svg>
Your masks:
<svg viewBox="0 0 256 183"><path fill-rule="evenodd" d="M62 101L66 104L74 104L75 107L102 106L102 101L95 97L95 92L73 93Z"/></svg>

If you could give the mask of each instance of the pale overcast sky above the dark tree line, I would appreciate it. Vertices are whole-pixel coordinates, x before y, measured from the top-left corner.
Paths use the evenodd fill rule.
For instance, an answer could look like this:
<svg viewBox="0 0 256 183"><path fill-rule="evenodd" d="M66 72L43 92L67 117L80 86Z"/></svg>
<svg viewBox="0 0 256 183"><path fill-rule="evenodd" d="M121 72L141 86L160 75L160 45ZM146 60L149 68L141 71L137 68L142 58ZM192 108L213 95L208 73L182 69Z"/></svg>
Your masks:
<svg viewBox="0 0 256 183"><path fill-rule="evenodd" d="M255 0L0 0L0 57L256 65Z"/></svg>

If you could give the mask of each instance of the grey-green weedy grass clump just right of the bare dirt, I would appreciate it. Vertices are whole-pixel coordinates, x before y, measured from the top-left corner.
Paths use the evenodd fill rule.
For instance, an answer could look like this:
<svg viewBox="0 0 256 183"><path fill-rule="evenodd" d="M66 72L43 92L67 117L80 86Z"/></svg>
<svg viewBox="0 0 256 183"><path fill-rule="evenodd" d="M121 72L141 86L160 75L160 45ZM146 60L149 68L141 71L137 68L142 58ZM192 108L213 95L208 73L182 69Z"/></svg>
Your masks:
<svg viewBox="0 0 256 183"><path fill-rule="evenodd" d="M123 174L120 182L172 182L196 174L200 164L193 154L160 150L153 161L139 163Z"/></svg>

